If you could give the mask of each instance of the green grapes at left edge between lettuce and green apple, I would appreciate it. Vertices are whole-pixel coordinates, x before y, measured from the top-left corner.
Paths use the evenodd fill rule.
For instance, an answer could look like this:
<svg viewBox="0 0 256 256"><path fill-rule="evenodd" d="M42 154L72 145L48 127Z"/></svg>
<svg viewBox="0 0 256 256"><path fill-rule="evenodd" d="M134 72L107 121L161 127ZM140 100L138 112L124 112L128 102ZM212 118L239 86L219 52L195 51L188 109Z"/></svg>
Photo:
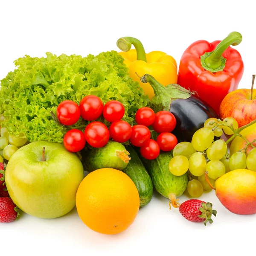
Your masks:
<svg viewBox="0 0 256 256"><path fill-rule="evenodd" d="M3 122L2 115L0 116L0 123ZM21 136L22 137L22 136ZM8 134L8 131L5 127L0 128L0 162L3 163L3 160L10 160L11 156L26 144L27 139L21 137L12 137Z"/></svg>

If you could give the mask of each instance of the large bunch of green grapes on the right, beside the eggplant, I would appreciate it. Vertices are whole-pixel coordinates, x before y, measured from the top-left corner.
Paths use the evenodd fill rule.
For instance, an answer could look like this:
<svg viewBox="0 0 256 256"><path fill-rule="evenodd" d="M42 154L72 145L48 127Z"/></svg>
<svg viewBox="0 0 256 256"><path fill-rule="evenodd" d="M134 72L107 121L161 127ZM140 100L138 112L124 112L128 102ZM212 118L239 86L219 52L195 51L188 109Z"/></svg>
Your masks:
<svg viewBox="0 0 256 256"><path fill-rule="evenodd" d="M214 141L214 137L221 137L223 132L232 135L238 129L235 119L227 117L223 121L216 118L207 119L204 128L195 132L190 142L181 142L173 149L173 158L169 163L169 170L173 175L180 176L189 172L187 192L192 197L200 197L204 191L210 191L205 179L208 173L209 182L214 186L215 180L227 172L235 169L256 171L256 148L246 156L244 152L236 152L231 157L227 152L224 140Z"/></svg>

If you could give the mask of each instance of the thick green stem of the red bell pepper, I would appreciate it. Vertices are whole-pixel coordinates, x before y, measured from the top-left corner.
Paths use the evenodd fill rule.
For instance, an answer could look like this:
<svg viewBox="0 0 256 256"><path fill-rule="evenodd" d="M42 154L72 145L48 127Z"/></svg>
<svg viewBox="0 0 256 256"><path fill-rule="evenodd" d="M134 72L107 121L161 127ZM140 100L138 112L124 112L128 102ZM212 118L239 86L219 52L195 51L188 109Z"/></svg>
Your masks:
<svg viewBox="0 0 256 256"><path fill-rule="evenodd" d="M224 38L212 52L212 54L204 60L207 67L215 70L221 66L221 56L230 45L238 45L242 41L242 35L239 32L231 32Z"/></svg>

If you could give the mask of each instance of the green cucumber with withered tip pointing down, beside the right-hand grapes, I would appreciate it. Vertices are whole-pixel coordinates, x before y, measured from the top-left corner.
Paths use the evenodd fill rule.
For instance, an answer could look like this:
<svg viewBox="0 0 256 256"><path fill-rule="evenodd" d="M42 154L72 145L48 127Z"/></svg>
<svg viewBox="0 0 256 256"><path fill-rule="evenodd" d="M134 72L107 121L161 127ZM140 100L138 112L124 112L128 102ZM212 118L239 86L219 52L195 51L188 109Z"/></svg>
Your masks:
<svg viewBox="0 0 256 256"><path fill-rule="evenodd" d="M154 160L146 160L140 154L144 166L151 176L154 188L158 193L170 200L169 205L179 207L177 197L186 190L189 176L187 173L181 176L175 176L169 171L169 162L172 159L172 152L160 152Z"/></svg>

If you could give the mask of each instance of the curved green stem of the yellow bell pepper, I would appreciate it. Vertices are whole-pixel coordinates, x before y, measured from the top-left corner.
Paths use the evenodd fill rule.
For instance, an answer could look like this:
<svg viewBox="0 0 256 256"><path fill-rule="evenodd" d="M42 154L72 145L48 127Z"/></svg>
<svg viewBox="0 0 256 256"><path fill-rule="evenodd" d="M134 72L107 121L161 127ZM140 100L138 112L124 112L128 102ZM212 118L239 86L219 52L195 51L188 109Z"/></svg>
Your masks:
<svg viewBox="0 0 256 256"><path fill-rule="evenodd" d="M137 61L147 62L146 53L145 53L143 44L137 38L132 38L129 36L119 38L116 42L116 45L123 52L128 52L131 49L131 46L134 45L137 52Z"/></svg>

